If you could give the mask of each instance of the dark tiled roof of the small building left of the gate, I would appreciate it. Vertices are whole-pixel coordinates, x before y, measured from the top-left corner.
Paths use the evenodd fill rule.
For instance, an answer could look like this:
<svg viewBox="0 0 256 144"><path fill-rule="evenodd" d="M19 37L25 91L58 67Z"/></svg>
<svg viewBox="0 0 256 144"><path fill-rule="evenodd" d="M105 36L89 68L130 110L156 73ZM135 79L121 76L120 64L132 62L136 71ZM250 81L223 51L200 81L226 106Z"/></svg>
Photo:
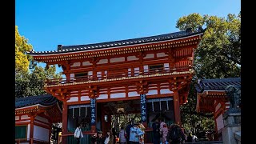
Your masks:
<svg viewBox="0 0 256 144"><path fill-rule="evenodd" d="M57 99L50 94L42 94L26 98L15 98L15 108L33 106L40 104L42 106L52 106L57 102Z"/></svg>

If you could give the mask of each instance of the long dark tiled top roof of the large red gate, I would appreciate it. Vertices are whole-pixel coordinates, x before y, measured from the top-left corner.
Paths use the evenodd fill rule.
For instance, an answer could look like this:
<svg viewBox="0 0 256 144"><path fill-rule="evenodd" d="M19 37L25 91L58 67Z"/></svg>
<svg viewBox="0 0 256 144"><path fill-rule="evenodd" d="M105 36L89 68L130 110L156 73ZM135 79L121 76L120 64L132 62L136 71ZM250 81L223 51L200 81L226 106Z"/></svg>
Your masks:
<svg viewBox="0 0 256 144"><path fill-rule="evenodd" d="M166 40L178 39L193 36L196 34L202 34L206 29L198 29L194 32L191 30L178 31L170 34L161 34L156 36L144 37L144 38L132 38L113 42L100 42L86 45L74 45L74 46L58 46L58 50L52 51L30 51L28 54L64 54L69 52L78 52L86 50L99 50L106 48L114 48L118 46L131 46L134 44L146 44L150 42L161 42Z"/></svg>

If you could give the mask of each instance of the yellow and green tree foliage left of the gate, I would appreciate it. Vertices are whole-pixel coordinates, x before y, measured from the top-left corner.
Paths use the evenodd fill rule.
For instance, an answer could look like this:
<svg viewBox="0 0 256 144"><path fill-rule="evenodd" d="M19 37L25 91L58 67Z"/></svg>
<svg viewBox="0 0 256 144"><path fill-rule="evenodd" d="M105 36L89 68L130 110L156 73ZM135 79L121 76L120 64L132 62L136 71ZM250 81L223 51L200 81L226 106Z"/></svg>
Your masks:
<svg viewBox="0 0 256 144"><path fill-rule="evenodd" d="M46 94L43 90L46 78L61 78L56 74L56 67L49 66L48 69L42 66L30 67L33 63L26 51L33 49L28 39L18 33L18 26L15 26L15 97L35 96Z"/></svg>

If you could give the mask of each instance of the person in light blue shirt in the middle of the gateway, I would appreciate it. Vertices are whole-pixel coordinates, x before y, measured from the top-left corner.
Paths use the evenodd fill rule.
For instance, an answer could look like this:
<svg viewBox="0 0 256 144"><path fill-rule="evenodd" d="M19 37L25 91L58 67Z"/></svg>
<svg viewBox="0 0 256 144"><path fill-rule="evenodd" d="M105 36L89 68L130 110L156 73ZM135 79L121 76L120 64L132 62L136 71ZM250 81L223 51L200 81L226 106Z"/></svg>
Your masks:
<svg viewBox="0 0 256 144"><path fill-rule="evenodd" d="M143 131L138 127L138 124L134 124L133 127L130 128L130 144L139 144L140 136L144 134Z"/></svg>

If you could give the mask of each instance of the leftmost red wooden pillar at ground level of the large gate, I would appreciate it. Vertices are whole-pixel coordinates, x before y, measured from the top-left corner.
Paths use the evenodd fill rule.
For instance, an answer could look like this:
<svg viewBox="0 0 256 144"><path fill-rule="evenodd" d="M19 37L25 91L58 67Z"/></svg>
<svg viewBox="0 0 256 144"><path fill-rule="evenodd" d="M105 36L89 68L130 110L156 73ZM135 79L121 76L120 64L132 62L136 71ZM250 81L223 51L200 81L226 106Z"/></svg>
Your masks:
<svg viewBox="0 0 256 144"><path fill-rule="evenodd" d="M63 102L62 110L62 135L67 133L67 104L66 101ZM66 136L62 136L62 144L66 144Z"/></svg>

